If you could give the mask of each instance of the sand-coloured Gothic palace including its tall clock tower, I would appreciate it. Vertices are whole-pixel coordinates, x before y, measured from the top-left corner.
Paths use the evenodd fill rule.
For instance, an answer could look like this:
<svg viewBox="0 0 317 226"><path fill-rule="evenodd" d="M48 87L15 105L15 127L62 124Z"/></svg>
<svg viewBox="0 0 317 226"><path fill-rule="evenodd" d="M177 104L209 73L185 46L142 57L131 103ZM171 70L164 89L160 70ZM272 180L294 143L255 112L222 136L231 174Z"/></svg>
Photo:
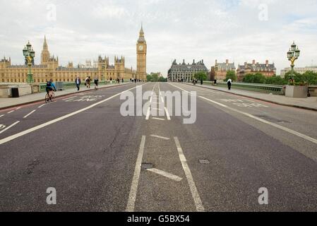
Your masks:
<svg viewBox="0 0 317 226"><path fill-rule="evenodd" d="M74 67L73 63L68 63L67 66L59 66L59 58L49 53L47 39L44 37L41 64L32 65L33 80L35 83L45 83L52 78L53 81L72 82L75 81L77 76L82 80L87 76L91 78L97 77L100 81L109 81L111 78L113 80L116 78L145 80L147 46L143 28L140 30L136 47L137 71L125 67L124 57L114 57L114 65L109 64L109 57L100 56L98 57L96 67ZM26 83L27 77L28 66L11 65L11 59L6 59L6 57L0 60L0 83Z"/></svg>

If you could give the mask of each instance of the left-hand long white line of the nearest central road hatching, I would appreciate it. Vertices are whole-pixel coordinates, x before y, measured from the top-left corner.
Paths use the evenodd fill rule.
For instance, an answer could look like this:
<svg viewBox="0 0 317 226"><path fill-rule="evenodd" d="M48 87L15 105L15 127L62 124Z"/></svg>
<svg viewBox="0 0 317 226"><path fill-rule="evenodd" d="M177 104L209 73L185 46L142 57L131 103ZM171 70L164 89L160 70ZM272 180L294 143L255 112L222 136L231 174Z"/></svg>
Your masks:
<svg viewBox="0 0 317 226"><path fill-rule="evenodd" d="M130 190L130 194L128 195L128 204L126 205L126 212L133 212L134 207L136 206L136 194L138 192L138 182L140 179L141 165L142 165L144 146L145 146L145 138L146 138L145 136L142 136L140 149L138 151L138 158L136 160L136 169L134 170L131 190Z"/></svg>

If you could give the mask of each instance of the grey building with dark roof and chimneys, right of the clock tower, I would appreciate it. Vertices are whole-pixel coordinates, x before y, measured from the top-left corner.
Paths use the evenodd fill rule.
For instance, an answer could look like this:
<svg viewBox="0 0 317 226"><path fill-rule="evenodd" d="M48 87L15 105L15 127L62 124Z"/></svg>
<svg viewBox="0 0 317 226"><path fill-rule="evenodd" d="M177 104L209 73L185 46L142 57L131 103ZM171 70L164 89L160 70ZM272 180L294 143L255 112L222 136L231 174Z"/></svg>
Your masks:
<svg viewBox="0 0 317 226"><path fill-rule="evenodd" d="M177 64L176 59L173 61L171 68L168 71L169 81L191 81L197 72L203 71L208 75L208 69L203 63L203 60L197 63L193 60L193 64Z"/></svg>

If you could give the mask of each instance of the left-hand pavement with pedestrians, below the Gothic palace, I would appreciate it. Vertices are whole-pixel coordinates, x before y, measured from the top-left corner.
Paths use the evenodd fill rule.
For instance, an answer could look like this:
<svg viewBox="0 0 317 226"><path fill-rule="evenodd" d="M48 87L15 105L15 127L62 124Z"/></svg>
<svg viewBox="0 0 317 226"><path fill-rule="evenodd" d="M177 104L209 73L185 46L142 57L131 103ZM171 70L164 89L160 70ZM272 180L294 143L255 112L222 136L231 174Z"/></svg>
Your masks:
<svg viewBox="0 0 317 226"><path fill-rule="evenodd" d="M124 84L121 83L120 85L127 85L127 84L131 84L131 83L124 83ZM114 87L118 85L119 84L100 85L99 89ZM93 85L92 85L92 88L90 89L80 86L80 91L77 91L77 88L70 88L70 89L56 92L55 97L64 97L66 95L71 95L75 93L85 93L85 92L94 91L94 90L95 89ZM30 104L30 103L38 102L41 100L43 100L44 102L45 94L46 93L35 93L35 94L21 96L18 98L0 98L0 109L7 109L9 107L18 107L20 105Z"/></svg>

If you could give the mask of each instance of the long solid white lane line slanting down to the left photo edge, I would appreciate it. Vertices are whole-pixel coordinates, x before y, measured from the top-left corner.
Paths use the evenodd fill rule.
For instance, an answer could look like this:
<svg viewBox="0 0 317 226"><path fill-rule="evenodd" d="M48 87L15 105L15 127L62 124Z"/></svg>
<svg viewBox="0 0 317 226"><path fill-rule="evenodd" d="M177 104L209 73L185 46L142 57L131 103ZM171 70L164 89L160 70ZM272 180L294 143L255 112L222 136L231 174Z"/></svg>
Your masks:
<svg viewBox="0 0 317 226"><path fill-rule="evenodd" d="M142 86L142 85L141 85L141 86ZM52 120L52 121L48 121L48 122L46 122L46 123L44 123L44 124L41 124L41 125L39 125L39 126L35 126L35 127L31 128L31 129L27 129L27 130L22 131L22 132L20 132L20 133L16 133L16 134L14 134L14 135L12 135L12 136L8 136L7 138L4 138L4 139L1 139L1 140L0 140L0 145L1 145L1 144L4 144L4 143L7 143L7 142L9 142L9 141L12 141L12 140L14 140L14 139L16 139L16 138L19 138L20 136L24 136L25 134L28 134L28 133L32 133L32 132L34 132L34 131L37 131L38 129L42 129L42 128L46 127L46 126L52 125L52 124L56 123L57 121L62 121L62 120L64 120L64 119L67 119L67 118L69 118L69 117L72 117L72 116L74 116L74 115L76 115L76 114L79 114L79 113L81 113L81 112L85 112L85 111L87 111L88 109L91 109L92 107L96 107L97 105L100 105L100 104L102 104L102 103L104 103L104 102L107 102L108 100L112 100L114 97L118 97L118 96L121 95L122 93L126 93L126 92L128 92L128 91L130 91L130 90L133 90L133 89L135 89L135 88L136 88L136 87L131 88L131 89L129 89L129 90L125 90L125 91L123 91L123 92L121 92L121 93L118 93L118 94L116 94L116 95L113 95L112 97L109 97L109 98L107 98L107 99L105 99L105 100L102 100L102 101L100 101L100 102L97 102L97 103L95 103L95 104L93 104L93 105L90 105L90 106L88 106L88 107L85 107L85 108L83 108L83 109L80 109L80 110L78 110L78 111L76 111L76 112L73 112L73 113L70 113L70 114L66 114L66 115L64 115L63 117L59 117L59 118L54 119L54 120Z"/></svg>

